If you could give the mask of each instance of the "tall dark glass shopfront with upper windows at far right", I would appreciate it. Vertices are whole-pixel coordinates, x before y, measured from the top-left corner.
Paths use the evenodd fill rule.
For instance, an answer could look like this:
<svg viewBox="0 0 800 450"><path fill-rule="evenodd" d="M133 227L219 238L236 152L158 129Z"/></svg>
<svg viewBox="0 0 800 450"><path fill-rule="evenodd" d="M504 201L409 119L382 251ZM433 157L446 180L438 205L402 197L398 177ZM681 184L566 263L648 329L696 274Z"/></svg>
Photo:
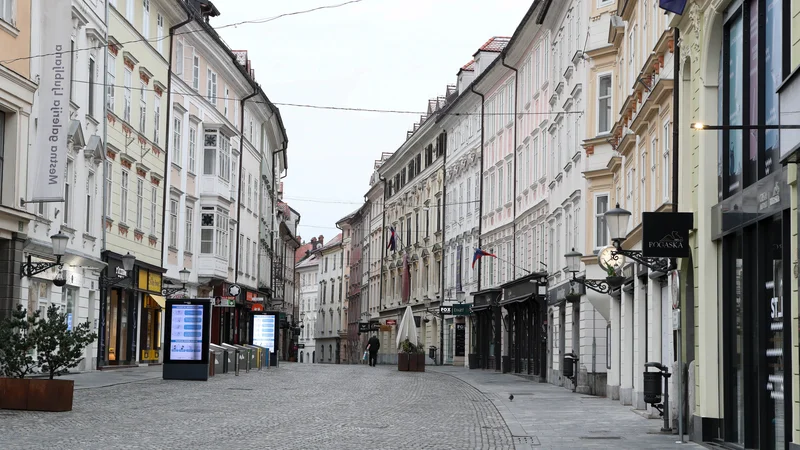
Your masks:
<svg viewBox="0 0 800 450"><path fill-rule="evenodd" d="M746 448L792 440L789 169L780 165L779 131L757 127L779 123L789 3L744 0L723 13L720 200L711 216L722 247L721 425L724 441Z"/></svg>

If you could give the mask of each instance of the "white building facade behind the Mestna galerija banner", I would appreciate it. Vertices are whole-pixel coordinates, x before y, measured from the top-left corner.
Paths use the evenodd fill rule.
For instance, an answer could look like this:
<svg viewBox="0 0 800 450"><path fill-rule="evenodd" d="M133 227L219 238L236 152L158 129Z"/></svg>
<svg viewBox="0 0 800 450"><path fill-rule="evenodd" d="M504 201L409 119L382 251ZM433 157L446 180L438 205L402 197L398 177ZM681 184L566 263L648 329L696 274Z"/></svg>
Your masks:
<svg viewBox="0 0 800 450"><path fill-rule="evenodd" d="M42 36L48 30L42 27L44 2L32 2L31 10L31 53L44 52ZM100 258L103 247L102 180L105 160L103 128L105 121L103 77L105 76L108 29L105 23L104 2L86 0L72 1L72 45L74 48L89 48L88 51L75 52L70 73L70 121L67 129L67 169L63 203L29 204L26 210L35 215L30 222L24 253L30 254L35 262L37 257L51 257L50 236L62 233L69 237L66 255L62 258L63 271L53 268L23 278L23 289L27 288L29 310L44 311L49 305L58 305L71 317L73 324L90 322L91 329L98 331L100 297L98 279L105 263ZM41 76L44 58L30 59L31 78ZM38 93L37 93L38 99ZM31 145L36 142L35 124L39 123L38 108L31 114ZM26 130L27 131L27 130ZM30 166L33 169L33 165ZM29 186L39 183L34 174L29 174ZM54 277L66 280L63 287L52 283ZM92 370L97 363L97 344L84 350L84 360L79 370Z"/></svg>

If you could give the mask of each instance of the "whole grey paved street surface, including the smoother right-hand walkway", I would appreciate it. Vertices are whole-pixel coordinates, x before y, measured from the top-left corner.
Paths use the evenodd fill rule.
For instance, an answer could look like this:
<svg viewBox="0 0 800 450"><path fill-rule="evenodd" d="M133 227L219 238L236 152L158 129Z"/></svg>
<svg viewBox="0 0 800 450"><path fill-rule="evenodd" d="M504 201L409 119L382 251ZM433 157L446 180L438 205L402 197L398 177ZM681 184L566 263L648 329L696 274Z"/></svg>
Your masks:
<svg viewBox="0 0 800 450"><path fill-rule="evenodd" d="M576 411L587 401L566 390L466 369L284 363L207 383L164 381L158 369L71 376L71 413L0 411L0 449L666 448L675 440L648 435L658 421L608 400ZM505 405L509 388L517 399ZM533 395L548 401L534 404ZM575 405L565 409L567 397ZM599 425L619 439L580 438Z"/></svg>

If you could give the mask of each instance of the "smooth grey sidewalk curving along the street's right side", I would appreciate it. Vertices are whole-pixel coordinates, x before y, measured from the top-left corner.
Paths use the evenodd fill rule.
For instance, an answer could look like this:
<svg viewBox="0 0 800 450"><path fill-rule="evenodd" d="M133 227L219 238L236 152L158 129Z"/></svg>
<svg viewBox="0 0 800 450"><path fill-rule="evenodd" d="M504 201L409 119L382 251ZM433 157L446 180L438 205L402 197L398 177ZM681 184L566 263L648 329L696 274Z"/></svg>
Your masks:
<svg viewBox="0 0 800 450"><path fill-rule="evenodd" d="M701 448L694 443L677 444L677 435L660 432L663 420L645 419L630 406L604 397L493 371L452 366L425 369L458 378L489 398L511 430L517 450ZM508 399L510 394L513 401Z"/></svg>

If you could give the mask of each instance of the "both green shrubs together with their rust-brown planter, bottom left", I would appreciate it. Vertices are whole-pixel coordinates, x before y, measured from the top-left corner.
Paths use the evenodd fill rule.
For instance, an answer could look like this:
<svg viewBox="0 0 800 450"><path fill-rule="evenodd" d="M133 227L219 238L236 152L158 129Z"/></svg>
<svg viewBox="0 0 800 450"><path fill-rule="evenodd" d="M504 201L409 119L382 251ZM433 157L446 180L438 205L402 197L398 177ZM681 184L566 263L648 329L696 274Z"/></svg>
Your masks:
<svg viewBox="0 0 800 450"><path fill-rule="evenodd" d="M4 381L0 382L0 408L71 411L75 382L54 378L77 367L83 360L83 350L97 339L97 335L89 331L89 322L75 325L69 330L67 315L55 305L47 308L46 319L40 318L38 312L25 318L26 315L25 310L18 306L12 318L0 326L4 330L0 336L2 333L19 335L6 346L5 362L0 363L5 367L5 375L17 377L14 381L0 379ZM24 333L17 330L23 330ZM35 364L31 365L31 351L34 348L37 358ZM47 378L24 378L34 367L38 367ZM10 401L3 400L9 397L12 397Z"/></svg>

